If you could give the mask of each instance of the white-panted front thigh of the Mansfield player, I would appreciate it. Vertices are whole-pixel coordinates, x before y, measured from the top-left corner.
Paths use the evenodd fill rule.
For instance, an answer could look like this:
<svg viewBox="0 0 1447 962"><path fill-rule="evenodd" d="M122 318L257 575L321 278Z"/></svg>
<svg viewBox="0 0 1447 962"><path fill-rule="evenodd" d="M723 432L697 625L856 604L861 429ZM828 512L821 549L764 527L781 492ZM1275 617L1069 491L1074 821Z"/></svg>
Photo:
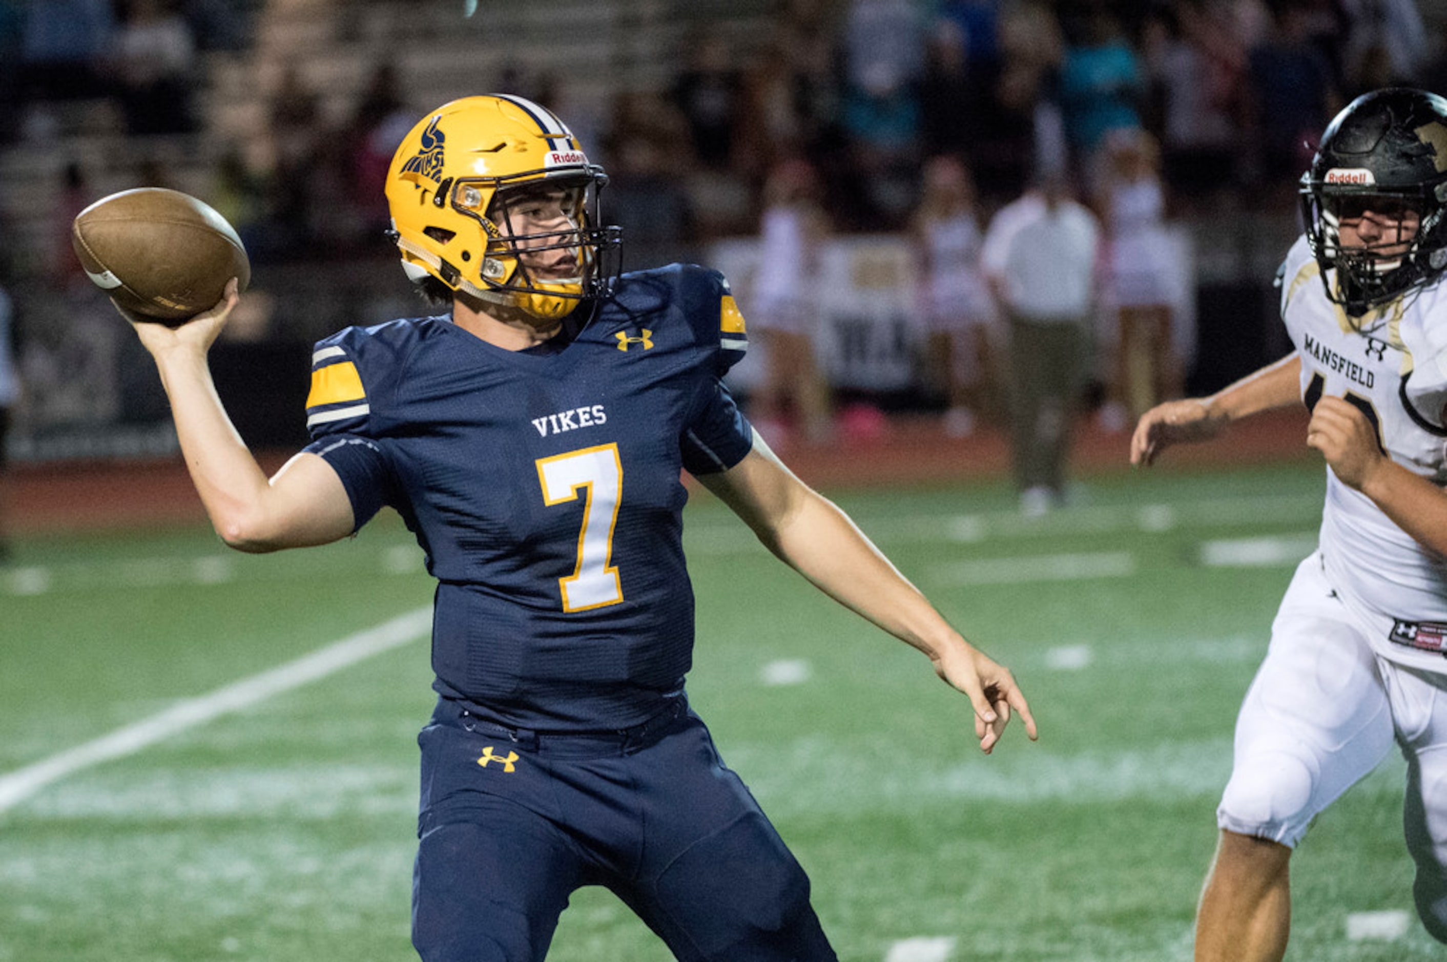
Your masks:
<svg viewBox="0 0 1447 962"><path fill-rule="evenodd" d="M1321 577L1298 567L1272 623L1270 647L1236 722L1221 827L1295 846L1311 819L1392 748L1392 715L1376 657Z"/></svg>

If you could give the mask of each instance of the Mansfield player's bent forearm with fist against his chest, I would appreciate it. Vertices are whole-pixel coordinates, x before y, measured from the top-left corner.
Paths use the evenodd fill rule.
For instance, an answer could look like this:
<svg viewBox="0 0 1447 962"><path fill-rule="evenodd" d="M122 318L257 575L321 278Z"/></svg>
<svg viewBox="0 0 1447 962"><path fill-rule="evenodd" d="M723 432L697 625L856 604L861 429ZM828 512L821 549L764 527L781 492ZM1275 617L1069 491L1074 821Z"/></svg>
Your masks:
<svg viewBox="0 0 1447 962"><path fill-rule="evenodd" d="M1447 492L1388 457L1376 428L1354 405L1331 395L1318 399L1307 446L1321 451L1336 476L1376 502L1396 527L1447 554Z"/></svg>

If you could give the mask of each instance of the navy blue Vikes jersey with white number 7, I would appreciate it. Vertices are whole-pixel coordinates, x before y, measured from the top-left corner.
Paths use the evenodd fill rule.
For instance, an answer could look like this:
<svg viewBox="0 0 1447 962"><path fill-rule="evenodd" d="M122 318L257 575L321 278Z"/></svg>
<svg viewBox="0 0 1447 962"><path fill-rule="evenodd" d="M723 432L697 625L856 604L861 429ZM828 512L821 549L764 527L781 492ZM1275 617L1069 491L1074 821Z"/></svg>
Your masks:
<svg viewBox="0 0 1447 962"><path fill-rule="evenodd" d="M679 265L624 275L561 349L504 350L447 317L317 344L307 450L357 527L389 505L417 534L438 580L440 694L521 728L601 731L682 690L680 472L750 451L721 382L745 346L724 276Z"/></svg>

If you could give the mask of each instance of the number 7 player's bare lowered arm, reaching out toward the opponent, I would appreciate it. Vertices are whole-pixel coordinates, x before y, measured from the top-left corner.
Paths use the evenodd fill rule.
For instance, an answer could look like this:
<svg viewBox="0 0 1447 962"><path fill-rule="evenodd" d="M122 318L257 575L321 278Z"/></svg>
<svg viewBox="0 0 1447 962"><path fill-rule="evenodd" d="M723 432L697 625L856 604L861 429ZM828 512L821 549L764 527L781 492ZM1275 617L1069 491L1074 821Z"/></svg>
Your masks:
<svg viewBox="0 0 1447 962"><path fill-rule="evenodd" d="M987 754L1019 712L1036 738L1030 706L1009 668L961 637L854 522L774 456L754 450L732 469L699 480L738 514L760 541L826 595L919 648L935 673L969 696L975 735Z"/></svg>

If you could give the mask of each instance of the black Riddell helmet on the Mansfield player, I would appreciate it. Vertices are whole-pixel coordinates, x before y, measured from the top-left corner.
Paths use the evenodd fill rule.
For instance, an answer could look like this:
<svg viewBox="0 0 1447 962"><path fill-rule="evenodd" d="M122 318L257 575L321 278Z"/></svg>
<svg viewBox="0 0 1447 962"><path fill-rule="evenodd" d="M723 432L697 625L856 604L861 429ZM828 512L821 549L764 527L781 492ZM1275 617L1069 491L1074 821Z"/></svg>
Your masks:
<svg viewBox="0 0 1447 962"><path fill-rule="evenodd" d="M1406 87L1362 94L1327 126L1299 194L1327 297L1350 317L1433 284L1447 268L1447 100ZM1340 246L1341 217L1360 216L1365 198L1378 213L1421 216L1405 253Z"/></svg>

